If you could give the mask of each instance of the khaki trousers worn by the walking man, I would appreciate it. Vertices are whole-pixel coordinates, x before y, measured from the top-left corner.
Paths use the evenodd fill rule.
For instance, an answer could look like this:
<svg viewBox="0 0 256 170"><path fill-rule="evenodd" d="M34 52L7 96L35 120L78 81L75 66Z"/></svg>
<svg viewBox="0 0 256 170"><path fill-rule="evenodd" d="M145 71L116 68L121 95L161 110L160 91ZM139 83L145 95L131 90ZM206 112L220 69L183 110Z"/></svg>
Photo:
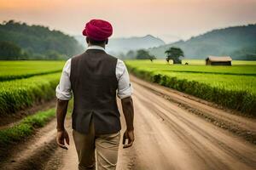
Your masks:
<svg viewBox="0 0 256 170"><path fill-rule="evenodd" d="M79 170L114 170L119 151L120 132L97 135L90 122L88 134L73 130L73 139L79 156ZM96 154L96 156L95 156Z"/></svg>

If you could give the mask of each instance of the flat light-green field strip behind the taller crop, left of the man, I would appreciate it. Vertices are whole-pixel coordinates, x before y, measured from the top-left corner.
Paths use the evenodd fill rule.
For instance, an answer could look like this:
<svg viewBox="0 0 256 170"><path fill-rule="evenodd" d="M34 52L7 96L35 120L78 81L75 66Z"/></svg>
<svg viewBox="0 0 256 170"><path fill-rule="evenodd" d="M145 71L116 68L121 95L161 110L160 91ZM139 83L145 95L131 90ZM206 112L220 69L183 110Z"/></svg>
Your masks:
<svg viewBox="0 0 256 170"><path fill-rule="evenodd" d="M64 61L0 61L0 82L61 72Z"/></svg>

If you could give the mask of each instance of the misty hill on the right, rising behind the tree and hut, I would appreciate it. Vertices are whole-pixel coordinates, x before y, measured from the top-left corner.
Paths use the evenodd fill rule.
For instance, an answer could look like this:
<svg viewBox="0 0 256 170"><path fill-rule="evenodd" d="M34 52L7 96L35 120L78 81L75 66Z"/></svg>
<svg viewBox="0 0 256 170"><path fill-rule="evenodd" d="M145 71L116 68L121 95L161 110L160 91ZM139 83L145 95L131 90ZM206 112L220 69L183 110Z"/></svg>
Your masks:
<svg viewBox="0 0 256 170"><path fill-rule="evenodd" d="M206 59L208 55L230 55L232 59L256 59L256 25L234 26L209 31L188 41L149 48L150 54L165 58L170 47L183 49L185 58Z"/></svg>

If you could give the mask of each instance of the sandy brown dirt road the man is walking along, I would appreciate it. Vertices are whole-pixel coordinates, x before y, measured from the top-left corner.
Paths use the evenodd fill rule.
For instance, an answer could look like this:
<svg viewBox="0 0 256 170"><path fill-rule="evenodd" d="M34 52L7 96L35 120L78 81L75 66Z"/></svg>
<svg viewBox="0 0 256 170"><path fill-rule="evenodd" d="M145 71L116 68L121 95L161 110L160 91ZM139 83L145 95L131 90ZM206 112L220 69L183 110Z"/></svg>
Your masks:
<svg viewBox="0 0 256 170"><path fill-rule="evenodd" d="M132 80L136 141L129 149L124 150L120 146L119 170L247 170L256 168L255 144L191 113L183 105L177 105L177 102L170 102L163 96L155 94L152 89L142 86L142 82L137 82L134 78ZM154 88L159 87L154 86ZM155 90L160 91L164 88ZM172 92L162 91L162 93ZM211 110L207 114L216 113L218 120L245 130L251 128L250 133L255 132L255 120L230 115L203 102L196 104L195 99L190 100L182 94L173 95L177 95L177 98L181 100L184 99L189 105L194 104L194 107L198 107L195 110L205 112ZM124 118L121 117L121 120L124 125ZM70 122L67 123L70 124ZM125 126L123 126L124 129ZM49 139L52 139L52 131L49 133ZM70 126L69 134L72 136ZM73 140L69 150L55 150L55 154L44 165L44 169L71 170L76 167L77 155Z"/></svg>

